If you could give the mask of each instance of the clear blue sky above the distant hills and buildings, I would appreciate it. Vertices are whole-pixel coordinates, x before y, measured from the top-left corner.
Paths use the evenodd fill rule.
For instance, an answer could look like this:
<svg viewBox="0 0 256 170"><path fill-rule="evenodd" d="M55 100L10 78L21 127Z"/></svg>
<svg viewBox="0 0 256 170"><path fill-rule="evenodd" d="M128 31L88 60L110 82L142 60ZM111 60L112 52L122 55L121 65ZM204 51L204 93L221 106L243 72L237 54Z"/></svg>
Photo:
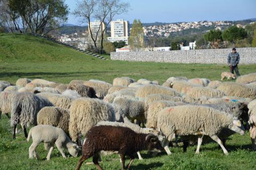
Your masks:
<svg viewBox="0 0 256 170"><path fill-rule="evenodd" d="M81 0L79 0L81 1ZM234 21L256 18L256 0L123 0L131 9L114 19L151 22ZM76 8L76 0L65 0L70 11ZM79 19L69 14L67 23L81 25Z"/></svg>

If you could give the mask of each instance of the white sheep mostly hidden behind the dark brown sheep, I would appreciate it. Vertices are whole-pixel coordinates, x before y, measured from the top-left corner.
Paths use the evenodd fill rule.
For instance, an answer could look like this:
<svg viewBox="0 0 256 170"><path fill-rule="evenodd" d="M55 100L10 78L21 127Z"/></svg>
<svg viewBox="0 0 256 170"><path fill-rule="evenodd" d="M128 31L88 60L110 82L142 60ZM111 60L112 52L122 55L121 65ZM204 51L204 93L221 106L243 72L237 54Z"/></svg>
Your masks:
<svg viewBox="0 0 256 170"><path fill-rule="evenodd" d="M156 131L153 128L142 128L138 125L135 125L133 123L130 122L129 119L124 119L125 123L121 123L121 122L99 122L96 126L101 126L101 125L106 125L106 126L117 126L117 127L128 127L130 129L132 129L132 131L134 131L135 133L143 133L143 134L149 134L149 133L153 133L158 137L158 140L161 142L164 142L165 137L158 131ZM140 152L137 152L137 155L139 157L140 160L142 160L143 158L140 155Z"/></svg>

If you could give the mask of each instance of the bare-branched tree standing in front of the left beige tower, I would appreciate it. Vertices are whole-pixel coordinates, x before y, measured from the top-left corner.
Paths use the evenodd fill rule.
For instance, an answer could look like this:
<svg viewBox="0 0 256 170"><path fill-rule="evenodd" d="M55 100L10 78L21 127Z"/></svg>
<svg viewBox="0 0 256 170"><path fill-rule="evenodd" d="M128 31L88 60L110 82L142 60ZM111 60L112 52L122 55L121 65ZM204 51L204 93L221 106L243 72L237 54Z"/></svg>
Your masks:
<svg viewBox="0 0 256 170"><path fill-rule="evenodd" d="M81 23L87 23L89 26L90 37L93 41L94 48L97 52L103 52L103 41L106 28L116 15L126 13L130 9L129 3L121 0L81 0L76 4L73 14L81 18ZM97 30L92 30L91 21L100 22ZM101 25L105 25L101 30ZM100 39L100 47L98 46Z"/></svg>

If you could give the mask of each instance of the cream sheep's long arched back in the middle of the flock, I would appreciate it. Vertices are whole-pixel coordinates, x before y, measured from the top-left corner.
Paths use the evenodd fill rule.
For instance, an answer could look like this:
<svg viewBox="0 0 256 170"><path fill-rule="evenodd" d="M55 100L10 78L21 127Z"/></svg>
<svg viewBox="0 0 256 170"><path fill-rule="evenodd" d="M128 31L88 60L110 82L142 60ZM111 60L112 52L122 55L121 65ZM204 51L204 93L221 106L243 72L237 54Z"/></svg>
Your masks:
<svg viewBox="0 0 256 170"><path fill-rule="evenodd" d="M167 88L159 85L145 85L138 88L135 96L138 98L146 98L149 94L166 94L172 96L180 96L172 88Z"/></svg>

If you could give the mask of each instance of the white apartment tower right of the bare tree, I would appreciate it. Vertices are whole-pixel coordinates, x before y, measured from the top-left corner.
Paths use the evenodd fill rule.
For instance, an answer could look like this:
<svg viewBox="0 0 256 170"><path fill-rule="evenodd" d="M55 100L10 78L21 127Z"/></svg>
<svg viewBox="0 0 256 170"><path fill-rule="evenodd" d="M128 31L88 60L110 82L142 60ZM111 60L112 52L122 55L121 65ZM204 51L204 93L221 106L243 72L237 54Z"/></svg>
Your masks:
<svg viewBox="0 0 256 170"><path fill-rule="evenodd" d="M124 41L128 44L128 38L130 36L130 26L128 21L119 19L117 21L111 21L111 37L108 37L109 42Z"/></svg>

